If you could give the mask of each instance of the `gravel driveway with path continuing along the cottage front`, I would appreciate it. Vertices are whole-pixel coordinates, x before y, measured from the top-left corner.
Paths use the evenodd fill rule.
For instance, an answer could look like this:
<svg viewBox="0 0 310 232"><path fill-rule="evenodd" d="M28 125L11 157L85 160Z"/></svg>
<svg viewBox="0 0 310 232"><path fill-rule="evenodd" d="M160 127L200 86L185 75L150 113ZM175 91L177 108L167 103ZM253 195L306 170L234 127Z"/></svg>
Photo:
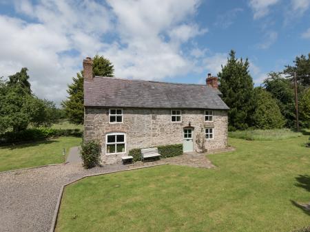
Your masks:
<svg viewBox="0 0 310 232"><path fill-rule="evenodd" d="M72 154L76 152L73 149ZM70 157L71 159L71 157ZM50 230L56 202L63 184L95 173L110 173L156 164L214 167L205 154L185 154L154 162L107 165L83 169L76 158L67 165L0 173L0 231L45 232Z"/></svg>

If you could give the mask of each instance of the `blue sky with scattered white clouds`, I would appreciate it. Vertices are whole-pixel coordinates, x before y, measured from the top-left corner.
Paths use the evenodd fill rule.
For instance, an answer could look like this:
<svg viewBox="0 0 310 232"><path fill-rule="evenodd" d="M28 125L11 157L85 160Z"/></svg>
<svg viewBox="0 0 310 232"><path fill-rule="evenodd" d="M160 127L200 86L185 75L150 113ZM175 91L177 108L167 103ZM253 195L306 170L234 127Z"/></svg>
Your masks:
<svg viewBox="0 0 310 232"><path fill-rule="evenodd" d="M118 78L205 83L229 51L260 85L310 52L310 0L0 0L0 76L28 67L32 91L59 105L83 59Z"/></svg>

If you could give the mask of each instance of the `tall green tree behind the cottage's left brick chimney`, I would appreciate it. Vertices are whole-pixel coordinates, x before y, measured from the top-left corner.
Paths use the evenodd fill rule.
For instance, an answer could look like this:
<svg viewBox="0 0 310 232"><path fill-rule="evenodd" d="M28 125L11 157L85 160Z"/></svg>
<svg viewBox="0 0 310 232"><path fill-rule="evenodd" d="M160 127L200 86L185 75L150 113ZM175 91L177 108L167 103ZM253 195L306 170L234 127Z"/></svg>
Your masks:
<svg viewBox="0 0 310 232"><path fill-rule="evenodd" d="M114 76L112 63L103 56L96 55L93 59L92 74L94 76ZM61 105L65 109L65 114L69 121L74 124L84 122L84 89L83 72L76 74L72 78L73 83L68 85L68 98Z"/></svg>

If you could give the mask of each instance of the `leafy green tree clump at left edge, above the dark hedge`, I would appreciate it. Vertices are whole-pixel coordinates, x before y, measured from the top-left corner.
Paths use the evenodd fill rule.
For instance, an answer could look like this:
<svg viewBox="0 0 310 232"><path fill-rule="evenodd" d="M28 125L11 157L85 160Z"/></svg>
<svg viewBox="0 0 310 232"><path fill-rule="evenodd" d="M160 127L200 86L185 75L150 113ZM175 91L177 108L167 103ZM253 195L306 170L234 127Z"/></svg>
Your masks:
<svg viewBox="0 0 310 232"><path fill-rule="evenodd" d="M50 126L56 121L56 106L34 96L28 79L25 67L8 81L0 79L0 134L22 131L28 125Z"/></svg>

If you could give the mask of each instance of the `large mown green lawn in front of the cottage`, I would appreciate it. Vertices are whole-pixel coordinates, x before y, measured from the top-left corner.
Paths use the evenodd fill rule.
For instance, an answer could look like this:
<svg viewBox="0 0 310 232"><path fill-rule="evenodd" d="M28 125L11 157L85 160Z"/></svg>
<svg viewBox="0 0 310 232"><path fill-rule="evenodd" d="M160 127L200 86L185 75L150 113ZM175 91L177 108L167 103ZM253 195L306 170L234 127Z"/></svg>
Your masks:
<svg viewBox="0 0 310 232"><path fill-rule="evenodd" d="M291 231L310 224L308 136L230 138L216 169L165 165L83 179L65 188L56 226L71 231ZM302 176L300 176L302 175Z"/></svg>

